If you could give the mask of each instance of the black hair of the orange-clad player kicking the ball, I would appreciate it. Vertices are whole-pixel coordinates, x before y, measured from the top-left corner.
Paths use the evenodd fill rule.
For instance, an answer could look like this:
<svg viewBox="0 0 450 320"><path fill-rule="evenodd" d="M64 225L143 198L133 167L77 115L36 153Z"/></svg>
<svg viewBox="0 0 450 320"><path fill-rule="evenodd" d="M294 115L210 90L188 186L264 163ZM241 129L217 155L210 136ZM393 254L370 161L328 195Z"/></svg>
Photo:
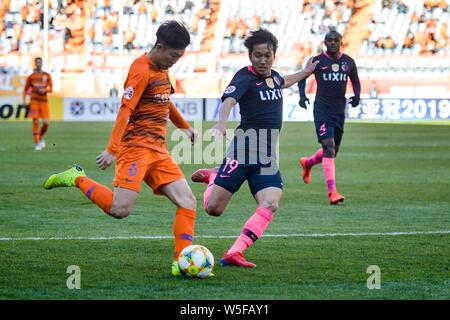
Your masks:
<svg viewBox="0 0 450 320"><path fill-rule="evenodd" d="M185 49L191 43L186 27L178 21L165 21L156 31L156 44L162 43L172 49Z"/></svg>

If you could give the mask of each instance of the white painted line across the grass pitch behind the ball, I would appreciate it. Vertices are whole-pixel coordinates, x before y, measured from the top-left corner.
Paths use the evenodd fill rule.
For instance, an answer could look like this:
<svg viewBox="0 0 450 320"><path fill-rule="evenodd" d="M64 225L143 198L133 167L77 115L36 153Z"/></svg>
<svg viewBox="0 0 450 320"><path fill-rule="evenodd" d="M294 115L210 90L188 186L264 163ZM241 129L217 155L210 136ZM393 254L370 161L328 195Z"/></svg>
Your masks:
<svg viewBox="0 0 450 320"><path fill-rule="evenodd" d="M292 233L292 234L266 234L265 238L332 238L332 237L368 237L368 236L414 236L431 234L450 234L450 230L440 231L410 231L410 232L361 232L361 233ZM195 236L195 239L226 239L232 236ZM0 237L0 241L53 241L53 240L158 240L173 239L173 236L111 236L111 237Z"/></svg>

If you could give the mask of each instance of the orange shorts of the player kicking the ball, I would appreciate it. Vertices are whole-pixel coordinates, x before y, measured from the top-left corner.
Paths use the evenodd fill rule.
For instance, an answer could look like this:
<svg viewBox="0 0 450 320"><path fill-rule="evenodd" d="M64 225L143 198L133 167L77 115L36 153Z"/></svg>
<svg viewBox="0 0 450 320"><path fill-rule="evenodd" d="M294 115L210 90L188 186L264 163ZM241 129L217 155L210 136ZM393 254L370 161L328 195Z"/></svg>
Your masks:
<svg viewBox="0 0 450 320"><path fill-rule="evenodd" d="M139 192L141 182L145 181L153 193L161 194L162 187L183 178L183 172L168 152L121 146L113 186Z"/></svg>

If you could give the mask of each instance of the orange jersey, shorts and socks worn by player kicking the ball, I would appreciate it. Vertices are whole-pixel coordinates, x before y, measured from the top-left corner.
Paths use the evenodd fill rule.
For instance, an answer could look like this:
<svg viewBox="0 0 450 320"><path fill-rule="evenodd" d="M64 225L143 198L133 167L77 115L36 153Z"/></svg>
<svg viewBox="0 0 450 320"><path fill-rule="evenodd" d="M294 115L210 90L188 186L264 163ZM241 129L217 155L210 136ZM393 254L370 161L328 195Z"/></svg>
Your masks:
<svg viewBox="0 0 450 320"><path fill-rule="evenodd" d="M173 88L168 71L158 69L147 55L131 65L124 85L122 104L107 151L116 156L115 187L140 191L144 181L155 194L184 175L167 150L166 131L170 119L175 126L190 126L170 101ZM113 192L87 177L76 185L105 213L109 213ZM178 208L174 221L175 255L192 244L195 211Z"/></svg>

